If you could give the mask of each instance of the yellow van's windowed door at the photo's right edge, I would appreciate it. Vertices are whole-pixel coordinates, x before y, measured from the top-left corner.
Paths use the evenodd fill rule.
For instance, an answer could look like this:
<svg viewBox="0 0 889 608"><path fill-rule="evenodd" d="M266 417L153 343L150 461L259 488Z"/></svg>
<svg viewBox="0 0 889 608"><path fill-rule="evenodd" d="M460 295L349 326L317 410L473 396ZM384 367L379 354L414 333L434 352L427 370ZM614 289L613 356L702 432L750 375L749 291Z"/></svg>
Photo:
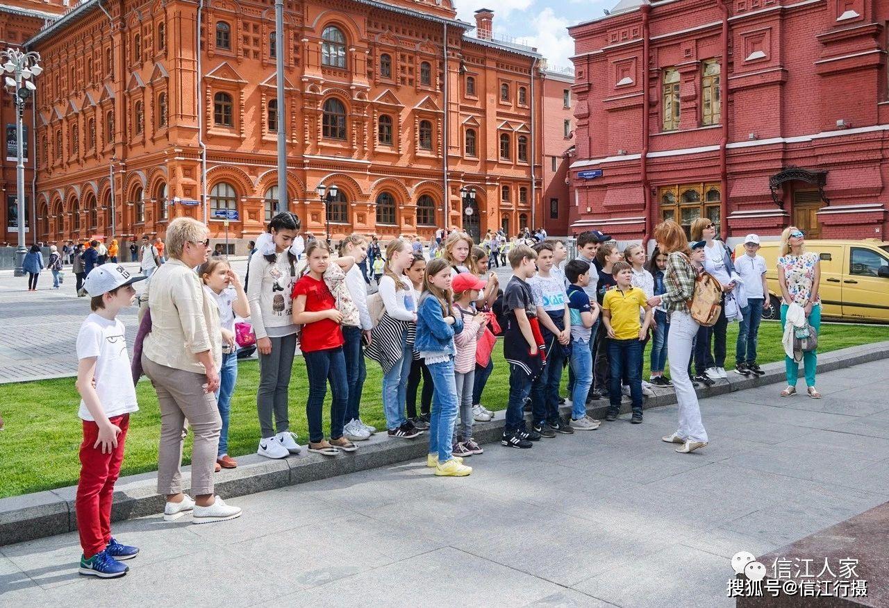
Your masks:
<svg viewBox="0 0 889 608"><path fill-rule="evenodd" d="M848 249L843 315L862 321L889 321L889 251L876 245L850 244Z"/></svg>

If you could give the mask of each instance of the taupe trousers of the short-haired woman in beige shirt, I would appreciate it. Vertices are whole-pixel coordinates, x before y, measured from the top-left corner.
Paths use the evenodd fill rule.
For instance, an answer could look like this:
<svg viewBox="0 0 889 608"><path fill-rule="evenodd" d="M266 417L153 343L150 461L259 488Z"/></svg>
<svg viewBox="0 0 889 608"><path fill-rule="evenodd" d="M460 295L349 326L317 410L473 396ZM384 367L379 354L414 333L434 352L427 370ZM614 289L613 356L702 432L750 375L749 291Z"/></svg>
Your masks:
<svg viewBox="0 0 889 608"><path fill-rule="evenodd" d="M142 369L157 392L161 411L161 439L157 450L157 492L182 492L182 444L186 421L195 435L191 451L191 492L213 493L213 468L220 442L222 419L216 397L204 393L204 374L158 365L142 355Z"/></svg>

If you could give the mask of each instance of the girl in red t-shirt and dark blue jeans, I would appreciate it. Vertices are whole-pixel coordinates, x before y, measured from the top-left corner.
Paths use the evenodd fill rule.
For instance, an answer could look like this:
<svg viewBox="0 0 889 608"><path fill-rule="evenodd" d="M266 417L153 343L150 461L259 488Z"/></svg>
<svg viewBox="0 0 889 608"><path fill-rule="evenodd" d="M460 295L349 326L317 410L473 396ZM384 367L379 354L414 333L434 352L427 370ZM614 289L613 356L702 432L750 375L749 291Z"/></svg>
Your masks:
<svg viewBox="0 0 889 608"><path fill-rule="evenodd" d="M342 313L324 283L324 271L331 263L327 244L312 241L306 250L306 260L308 271L293 286L293 323L302 325L300 348L308 372L308 451L324 456L335 456L340 450L355 452L356 444L342 434L348 399L346 357L342 350L345 340L340 329ZM324 439L321 423L328 379L333 397L330 441Z"/></svg>

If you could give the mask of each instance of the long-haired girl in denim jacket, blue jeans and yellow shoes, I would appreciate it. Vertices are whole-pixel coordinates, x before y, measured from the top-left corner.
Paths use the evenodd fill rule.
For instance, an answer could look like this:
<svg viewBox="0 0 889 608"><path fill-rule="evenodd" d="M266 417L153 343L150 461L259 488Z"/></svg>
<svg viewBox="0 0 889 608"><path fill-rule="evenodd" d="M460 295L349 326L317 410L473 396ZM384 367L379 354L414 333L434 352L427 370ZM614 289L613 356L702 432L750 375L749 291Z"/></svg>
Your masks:
<svg viewBox="0 0 889 608"><path fill-rule="evenodd" d="M426 360L435 386L426 465L435 467L438 476L468 476L472 468L464 466L462 459L453 455L451 444L454 420L457 419L453 336L455 332L463 331L463 322L451 309L451 267L448 262L441 258L429 260L423 285L425 291L420 297L414 346Z"/></svg>

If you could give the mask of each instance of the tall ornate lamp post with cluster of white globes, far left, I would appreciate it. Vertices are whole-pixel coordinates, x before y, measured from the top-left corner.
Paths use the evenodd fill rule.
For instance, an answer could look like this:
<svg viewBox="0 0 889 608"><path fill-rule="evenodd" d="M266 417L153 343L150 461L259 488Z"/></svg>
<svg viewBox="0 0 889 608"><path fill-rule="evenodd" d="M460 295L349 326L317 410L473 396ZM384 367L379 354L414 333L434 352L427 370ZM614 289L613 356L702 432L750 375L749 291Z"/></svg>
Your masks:
<svg viewBox="0 0 889 608"><path fill-rule="evenodd" d="M37 88L31 82L31 76L40 76L44 68L41 68L39 65L40 53L35 51L22 52L19 49L9 48L4 52L0 52L0 61L3 61L6 88L12 92L12 100L15 103L15 145L16 157L18 159L16 164L15 194L19 215L17 219L19 249L16 251L15 276L24 276L25 253L28 250L25 248L25 154L21 119L25 113L25 104L28 98ZM33 150L31 153L34 154Z"/></svg>

